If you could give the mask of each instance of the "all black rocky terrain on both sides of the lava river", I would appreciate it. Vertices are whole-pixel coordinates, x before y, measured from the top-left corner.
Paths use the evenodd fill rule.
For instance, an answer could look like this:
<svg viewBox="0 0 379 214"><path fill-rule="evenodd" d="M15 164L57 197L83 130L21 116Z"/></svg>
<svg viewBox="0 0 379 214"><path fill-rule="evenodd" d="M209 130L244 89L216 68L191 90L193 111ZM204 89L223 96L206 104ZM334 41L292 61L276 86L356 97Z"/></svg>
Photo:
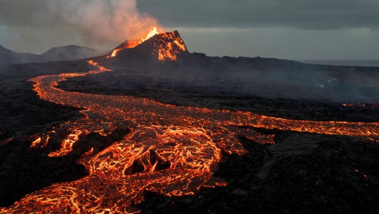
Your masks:
<svg viewBox="0 0 379 214"><path fill-rule="evenodd" d="M378 108L342 105L349 97L352 102L376 101L379 70L375 68L311 66L288 60L219 58L187 52L177 62L162 63L145 51L137 48L112 59L97 58L114 71L71 78L58 87L298 120L379 121ZM64 124L83 116L80 109L40 100L27 80L91 69L94 67L86 60L0 69L0 206L10 206L53 183L86 176L88 172L77 163L86 148L90 145L101 151L128 133L127 127L107 137L92 133L80 139L69 155L48 157L68 134ZM324 84L324 88L317 84ZM62 134L52 135L47 147L29 148L38 133L52 127ZM275 134L275 144L237 136L249 153L223 154L215 176L224 178L227 186L203 188L194 196L181 197L145 192L145 201L134 206L147 214L377 213L378 143L346 136L256 130Z"/></svg>

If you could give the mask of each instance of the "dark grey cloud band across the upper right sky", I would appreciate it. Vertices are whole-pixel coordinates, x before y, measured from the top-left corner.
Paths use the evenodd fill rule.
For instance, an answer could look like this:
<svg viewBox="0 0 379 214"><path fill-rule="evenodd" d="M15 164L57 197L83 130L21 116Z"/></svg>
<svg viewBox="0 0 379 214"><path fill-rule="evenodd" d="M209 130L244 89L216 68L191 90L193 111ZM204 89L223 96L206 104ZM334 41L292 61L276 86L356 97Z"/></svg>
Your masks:
<svg viewBox="0 0 379 214"><path fill-rule="evenodd" d="M138 0L168 27L379 28L378 0Z"/></svg>

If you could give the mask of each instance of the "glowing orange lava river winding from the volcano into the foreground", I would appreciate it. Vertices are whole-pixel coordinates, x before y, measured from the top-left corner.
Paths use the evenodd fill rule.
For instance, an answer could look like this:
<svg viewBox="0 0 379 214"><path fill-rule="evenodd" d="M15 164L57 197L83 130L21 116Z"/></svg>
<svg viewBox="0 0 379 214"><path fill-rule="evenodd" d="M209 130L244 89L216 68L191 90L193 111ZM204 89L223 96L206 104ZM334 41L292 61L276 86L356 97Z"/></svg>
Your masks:
<svg viewBox="0 0 379 214"><path fill-rule="evenodd" d="M88 176L28 194L14 205L1 208L0 213L138 213L132 205L143 200L144 191L182 196L193 195L201 187L227 185L212 175L223 153L247 152L239 136L258 143L274 143L274 135L261 134L249 127L379 141L379 123L294 121L243 111L178 107L145 98L56 88L67 78L110 71L98 68L30 80L41 99L85 109L81 111L83 118L66 123L70 134L62 139L61 148L49 156L68 155L72 146L91 132L107 136L117 127L131 131L103 151L96 153L92 148L81 156L79 162L88 170ZM41 134L31 142L31 147L46 146L50 133Z"/></svg>

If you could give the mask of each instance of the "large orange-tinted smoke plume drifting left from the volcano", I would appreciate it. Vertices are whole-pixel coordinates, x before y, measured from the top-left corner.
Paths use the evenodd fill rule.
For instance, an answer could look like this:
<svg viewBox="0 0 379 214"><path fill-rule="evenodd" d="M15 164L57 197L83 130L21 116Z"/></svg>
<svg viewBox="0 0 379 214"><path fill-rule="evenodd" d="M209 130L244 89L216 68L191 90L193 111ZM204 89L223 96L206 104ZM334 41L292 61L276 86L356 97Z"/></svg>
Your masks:
<svg viewBox="0 0 379 214"><path fill-rule="evenodd" d="M0 0L0 5L0 25L31 41L42 31L92 46L119 43L158 25L137 9L136 0Z"/></svg>

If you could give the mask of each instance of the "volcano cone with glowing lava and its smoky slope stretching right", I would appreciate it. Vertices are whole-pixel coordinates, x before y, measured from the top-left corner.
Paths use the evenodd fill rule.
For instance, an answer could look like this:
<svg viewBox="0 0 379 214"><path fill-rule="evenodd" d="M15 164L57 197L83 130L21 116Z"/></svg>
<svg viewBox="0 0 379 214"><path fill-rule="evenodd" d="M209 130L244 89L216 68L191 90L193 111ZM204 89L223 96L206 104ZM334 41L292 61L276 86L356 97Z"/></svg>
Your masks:
<svg viewBox="0 0 379 214"><path fill-rule="evenodd" d="M130 48L119 50L113 57L96 59L115 72L70 79L73 84L61 86L109 94L138 95L153 90L324 103L379 103L379 68L310 65L261 57L209 57L189 53L178 32L158 34L143 43L129 42L133 44ZM90 91L91 86L96 86L96 91Z"/></svg>

